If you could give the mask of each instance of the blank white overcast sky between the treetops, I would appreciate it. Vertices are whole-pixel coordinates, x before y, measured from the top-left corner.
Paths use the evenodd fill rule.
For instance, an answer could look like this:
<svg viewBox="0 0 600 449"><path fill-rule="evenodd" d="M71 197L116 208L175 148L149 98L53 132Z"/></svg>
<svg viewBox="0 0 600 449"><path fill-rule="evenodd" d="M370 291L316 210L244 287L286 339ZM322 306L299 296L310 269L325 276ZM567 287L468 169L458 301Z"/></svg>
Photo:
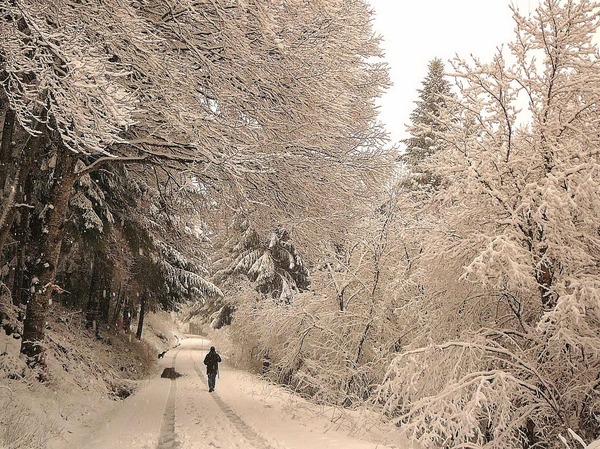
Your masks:
<svg viewBox="0 0 600 449"><path fill-rule="evenodd" d="M446 62L457 54L487 60L513 37L510 0L369 1L394 83L381 101L381 120L393 141L406 137L405 125L429 61L437 57ZM529 13L539 0L513 0L512 4Z"/></svg>

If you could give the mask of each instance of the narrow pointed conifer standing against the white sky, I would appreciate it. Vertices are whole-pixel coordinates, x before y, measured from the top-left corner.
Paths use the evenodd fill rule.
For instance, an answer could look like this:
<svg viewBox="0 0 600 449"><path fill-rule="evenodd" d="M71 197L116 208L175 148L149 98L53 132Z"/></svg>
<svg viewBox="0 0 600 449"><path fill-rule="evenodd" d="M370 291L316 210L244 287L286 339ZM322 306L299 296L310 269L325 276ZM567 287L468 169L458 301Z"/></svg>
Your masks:
<svg viewBox="0 0 600 449"><path fill-rule="evenodd" d="M406 151L401 160L409 166L417 183L429 184L435 181L423 163L440 149L439 133L446 128L447 99L452 95L441 59L435 58L429 63L422 85L418 90L417 107L410 115L411 125L407 130L411 136L404 140Z"/></svg>

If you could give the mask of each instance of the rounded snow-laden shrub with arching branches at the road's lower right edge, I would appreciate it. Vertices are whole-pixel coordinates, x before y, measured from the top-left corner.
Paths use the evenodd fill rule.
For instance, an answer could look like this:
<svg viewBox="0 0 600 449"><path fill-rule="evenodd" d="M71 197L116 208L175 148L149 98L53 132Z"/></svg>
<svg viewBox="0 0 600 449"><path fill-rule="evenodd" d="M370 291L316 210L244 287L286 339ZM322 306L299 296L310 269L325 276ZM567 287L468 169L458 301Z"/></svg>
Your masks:
<svg viewBox="0 0 600 449"><path fill-rule="evenodd" d="M526 354L464 335L396 357L378 399L423 447L519 448L530 421L549 427L537 418L558 412L557 391L547 382Z"/></svg>

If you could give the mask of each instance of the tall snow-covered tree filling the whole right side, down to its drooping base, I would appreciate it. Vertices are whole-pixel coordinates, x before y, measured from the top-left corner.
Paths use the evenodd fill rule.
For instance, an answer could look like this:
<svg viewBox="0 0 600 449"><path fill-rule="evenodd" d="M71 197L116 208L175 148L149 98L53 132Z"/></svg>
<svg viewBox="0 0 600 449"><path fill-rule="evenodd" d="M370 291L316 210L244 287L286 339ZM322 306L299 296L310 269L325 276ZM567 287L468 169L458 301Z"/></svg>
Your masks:
<svg viewBox="0 0 600 449"><path fill-rule="evenodd" d="M428 164L443 181L420 272L447 287L429 281L431 345L402 352L380 396L424 447L598 433L598 5L514 18L490 63L454 62L456 109Z"/></svg>

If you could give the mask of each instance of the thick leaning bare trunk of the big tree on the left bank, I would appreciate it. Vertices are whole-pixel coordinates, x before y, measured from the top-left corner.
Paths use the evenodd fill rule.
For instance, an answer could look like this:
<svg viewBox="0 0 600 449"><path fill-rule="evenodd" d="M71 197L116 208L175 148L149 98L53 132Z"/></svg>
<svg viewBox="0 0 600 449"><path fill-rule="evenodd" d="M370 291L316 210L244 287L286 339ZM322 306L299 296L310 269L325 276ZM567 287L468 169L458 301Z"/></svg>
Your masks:
<svg viewBox="0 0 600 449"><path fill-rule="evenodd" d="M64 221L69 198L75 182L77 157L71 151L60 148L57 153L55 182L50 193L46 211L46 232L42 236L40 257L32 273L32 297L27 304L27 315L21 343L21 353L27 357L30 367L45 368L44 336L48 307L56 278L56 266L64 236Z"/></svg>

